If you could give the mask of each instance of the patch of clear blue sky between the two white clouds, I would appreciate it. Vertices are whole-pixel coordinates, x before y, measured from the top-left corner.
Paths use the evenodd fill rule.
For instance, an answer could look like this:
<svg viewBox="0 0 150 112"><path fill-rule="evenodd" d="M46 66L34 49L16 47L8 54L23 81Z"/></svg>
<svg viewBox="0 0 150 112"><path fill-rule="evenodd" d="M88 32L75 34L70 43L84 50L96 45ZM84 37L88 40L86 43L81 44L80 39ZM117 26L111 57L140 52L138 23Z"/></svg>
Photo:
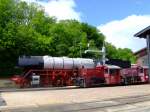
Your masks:
<svg viewBox="0 0 150 112"><path fill-rule="evenodd" d="M94 26L129 15L150 14L149 0L75 0L81 19Z"/></svg>

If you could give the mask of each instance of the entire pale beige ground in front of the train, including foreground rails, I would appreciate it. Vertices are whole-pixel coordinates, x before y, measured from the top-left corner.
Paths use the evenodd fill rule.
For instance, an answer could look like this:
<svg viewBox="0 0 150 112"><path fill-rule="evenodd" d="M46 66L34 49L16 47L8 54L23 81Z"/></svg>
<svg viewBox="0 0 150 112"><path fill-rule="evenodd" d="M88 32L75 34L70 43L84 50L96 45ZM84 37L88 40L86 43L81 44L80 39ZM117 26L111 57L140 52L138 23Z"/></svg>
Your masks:
<svg viewBox="0 0 150 112"><path fill-rule="evenodd" d="M1 92L1 112L149 112L150 85Z"/></svg>

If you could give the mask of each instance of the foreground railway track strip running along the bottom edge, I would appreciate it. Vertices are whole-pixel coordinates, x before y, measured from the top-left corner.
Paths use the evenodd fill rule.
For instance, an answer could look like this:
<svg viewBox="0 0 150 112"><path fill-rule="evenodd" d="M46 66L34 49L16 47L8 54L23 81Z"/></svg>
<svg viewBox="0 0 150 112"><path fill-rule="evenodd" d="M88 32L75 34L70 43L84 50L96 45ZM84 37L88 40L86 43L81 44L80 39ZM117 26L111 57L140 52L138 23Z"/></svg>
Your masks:
<svg viewBox="0 0 150 112"><path fill-rule="evenodd" d="M150 112L150 94L72 104L1 108L0 112Z"/></svg>

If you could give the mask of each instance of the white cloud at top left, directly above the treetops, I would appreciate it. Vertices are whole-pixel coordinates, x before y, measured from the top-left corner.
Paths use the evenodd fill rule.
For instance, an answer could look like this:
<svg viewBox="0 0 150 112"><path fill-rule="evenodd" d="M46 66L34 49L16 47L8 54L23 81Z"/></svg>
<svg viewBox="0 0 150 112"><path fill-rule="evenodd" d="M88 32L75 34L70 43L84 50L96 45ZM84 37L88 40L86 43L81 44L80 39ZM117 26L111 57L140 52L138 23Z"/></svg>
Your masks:
<svg viewBox="0 0 150 112"><path fill-rule="evenodd" d="M22 0L28 3L36 2L42 5L45 12L50 16L55 16L58 20L76 19L81 20L80 12L75 10L76 4L74 0L49 0L44 2L42 0Z"/></svg>

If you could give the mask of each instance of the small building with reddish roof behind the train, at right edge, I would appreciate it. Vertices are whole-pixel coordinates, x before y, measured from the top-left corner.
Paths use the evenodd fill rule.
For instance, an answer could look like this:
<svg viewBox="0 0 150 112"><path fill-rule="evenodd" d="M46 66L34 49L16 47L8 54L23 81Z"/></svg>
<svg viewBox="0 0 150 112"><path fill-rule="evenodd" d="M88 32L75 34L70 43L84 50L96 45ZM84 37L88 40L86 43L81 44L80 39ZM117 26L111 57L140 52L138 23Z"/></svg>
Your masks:
<svg viewBox="0 0 150 112"><path fill-rule="evenodd" d="M143 48L134 53L137 58L137 64L148 66L148 55L147 55L147 48Z"/></svg>

